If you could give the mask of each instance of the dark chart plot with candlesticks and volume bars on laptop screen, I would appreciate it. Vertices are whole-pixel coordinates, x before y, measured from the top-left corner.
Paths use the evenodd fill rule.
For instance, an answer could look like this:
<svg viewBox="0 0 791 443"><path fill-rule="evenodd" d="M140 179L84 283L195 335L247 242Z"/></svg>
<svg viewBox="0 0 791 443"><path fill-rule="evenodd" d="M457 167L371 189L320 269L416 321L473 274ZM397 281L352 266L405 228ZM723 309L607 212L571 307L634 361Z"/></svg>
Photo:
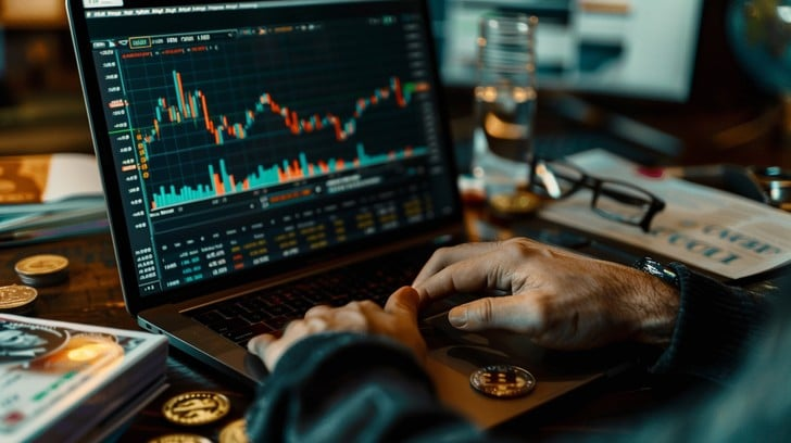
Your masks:
<svg viewBox="0 0 791 443"><path fill-rule="evenodd" d="M129 99L110 107L130 115L139 155L125 167L142 169L150 210L427 154L414 105L427 81L318 68L284 81L252 64L228 75L216 67L224 50L122 69ZM214 68L196 68L206 61Z"/></svg>

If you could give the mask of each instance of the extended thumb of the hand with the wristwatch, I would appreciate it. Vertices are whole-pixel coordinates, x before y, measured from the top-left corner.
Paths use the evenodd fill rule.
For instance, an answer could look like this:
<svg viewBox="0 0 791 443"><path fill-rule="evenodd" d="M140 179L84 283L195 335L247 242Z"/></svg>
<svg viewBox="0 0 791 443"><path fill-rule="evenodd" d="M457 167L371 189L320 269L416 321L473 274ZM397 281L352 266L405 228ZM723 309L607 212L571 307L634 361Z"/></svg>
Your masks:
<svg viewBox="0 0 791 443"><path fill-rule="evenodd" d="M529 332L536 329L536 309L525 306L524 299L512 295L485 298L453 307L448 321L456 329L479 331L485 329L507 329Z"/></svg>

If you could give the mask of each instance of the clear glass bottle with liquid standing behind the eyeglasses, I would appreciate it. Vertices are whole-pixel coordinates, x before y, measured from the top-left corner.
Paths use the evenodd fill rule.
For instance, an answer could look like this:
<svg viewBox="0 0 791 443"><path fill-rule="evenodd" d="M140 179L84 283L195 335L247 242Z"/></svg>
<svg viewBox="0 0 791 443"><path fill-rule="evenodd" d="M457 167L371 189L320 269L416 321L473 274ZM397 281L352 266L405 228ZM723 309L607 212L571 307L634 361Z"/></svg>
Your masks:
<svg viewBox="0 0 791 443"><path fill-rule="evenodd" d="M491 12L481 16L479 26L470 166L491 201L527 182L537 104L538 18Z"/></svg>

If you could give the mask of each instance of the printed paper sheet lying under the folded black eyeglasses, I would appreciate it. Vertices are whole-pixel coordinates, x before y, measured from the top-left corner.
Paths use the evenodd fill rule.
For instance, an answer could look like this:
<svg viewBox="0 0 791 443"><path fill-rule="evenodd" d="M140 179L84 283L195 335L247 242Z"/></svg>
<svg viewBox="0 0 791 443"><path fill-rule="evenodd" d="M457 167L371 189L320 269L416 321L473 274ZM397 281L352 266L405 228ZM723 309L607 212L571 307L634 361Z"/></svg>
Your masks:
<svg viewBox="0 0 791 443"><path fill-rule="evenodd" d="M625 180L663 199L665 210L651 231L597 215L591 192L547 204L540 216L611 238L710 273L737 279L791 261L791 213L687 180L656 177L645 168L602 150L568 159L591 176Z"/></svg>

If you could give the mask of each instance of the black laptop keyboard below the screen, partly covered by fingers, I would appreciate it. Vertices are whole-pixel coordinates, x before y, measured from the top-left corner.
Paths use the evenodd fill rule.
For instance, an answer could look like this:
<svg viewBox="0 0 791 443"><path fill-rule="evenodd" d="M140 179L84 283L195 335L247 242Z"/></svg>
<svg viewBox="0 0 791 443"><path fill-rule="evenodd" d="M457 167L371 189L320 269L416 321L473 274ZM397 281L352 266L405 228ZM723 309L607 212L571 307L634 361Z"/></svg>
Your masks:
<svg viewBox="0 0 791 443"><path fill-rule="evenodd" d="M244 346L254 336L278 334L317 304L342 306L355 300L373 300L384 306L398 288L410 284L432 248L420 248L352 266L332 269L310 280L300 279L241 295L189 313L193 319Z"/></svg>

